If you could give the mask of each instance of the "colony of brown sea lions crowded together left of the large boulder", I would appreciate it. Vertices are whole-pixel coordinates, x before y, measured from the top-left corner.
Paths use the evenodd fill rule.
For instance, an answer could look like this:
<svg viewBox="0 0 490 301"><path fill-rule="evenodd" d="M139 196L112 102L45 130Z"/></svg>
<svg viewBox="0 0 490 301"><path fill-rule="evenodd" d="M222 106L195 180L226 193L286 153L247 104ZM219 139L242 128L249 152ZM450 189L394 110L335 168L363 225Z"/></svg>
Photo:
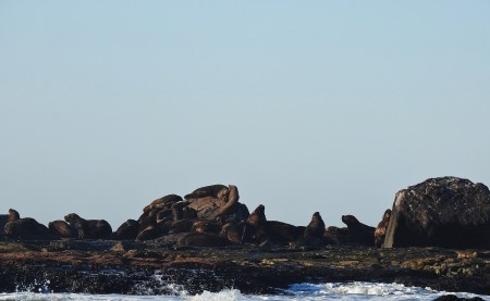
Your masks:
<svg viewBox="0 0 490 301"><path fill-rule="evenodd" d="M268 221L260 204L252 214L238 202L234 185L198 188L184 198L169 195L146 205L137 220L127 220L115 231L105 220L85 220L76 213L48 227L32 217L22 217L10 209L3 226L4 237L12 239L117 239L144 241L163 236L181 246L220 247L252 243L280 248L321 248L327 244L380 246L382 237L352 215L342 221L345 228L328 227L319 212L307 226ZM385 228L385 215L379 227ZM384 229L377 229L383 234ZM375 244L376 242L376 244Z"/></svg>

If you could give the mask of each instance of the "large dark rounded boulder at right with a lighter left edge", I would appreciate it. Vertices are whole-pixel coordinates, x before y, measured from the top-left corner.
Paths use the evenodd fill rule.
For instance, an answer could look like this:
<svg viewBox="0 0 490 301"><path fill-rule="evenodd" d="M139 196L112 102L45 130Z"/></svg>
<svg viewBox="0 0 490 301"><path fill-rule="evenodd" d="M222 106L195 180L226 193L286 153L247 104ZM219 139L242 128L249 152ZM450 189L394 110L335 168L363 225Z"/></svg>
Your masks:
<svg viewBox="0 0 490 301"><path fill-rule="evenodd" d="M489 238L487 186L439 177L396 193L383 247L486 249L490 247Z"/></svg>

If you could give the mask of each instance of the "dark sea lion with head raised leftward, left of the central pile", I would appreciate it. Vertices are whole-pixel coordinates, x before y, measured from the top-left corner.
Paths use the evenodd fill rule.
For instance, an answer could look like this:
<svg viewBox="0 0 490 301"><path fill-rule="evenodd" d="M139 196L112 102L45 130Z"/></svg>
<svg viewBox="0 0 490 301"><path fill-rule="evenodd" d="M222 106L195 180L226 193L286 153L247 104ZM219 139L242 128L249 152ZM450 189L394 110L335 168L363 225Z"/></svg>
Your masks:
<svg viewBox="0 0 490 301"><path fill-rule="evenodd" d="M76 213L64 216L64 221L78 230L78 238L86 239L110 239L112 236L111 225L105 220L85 220Z"/></svg>

